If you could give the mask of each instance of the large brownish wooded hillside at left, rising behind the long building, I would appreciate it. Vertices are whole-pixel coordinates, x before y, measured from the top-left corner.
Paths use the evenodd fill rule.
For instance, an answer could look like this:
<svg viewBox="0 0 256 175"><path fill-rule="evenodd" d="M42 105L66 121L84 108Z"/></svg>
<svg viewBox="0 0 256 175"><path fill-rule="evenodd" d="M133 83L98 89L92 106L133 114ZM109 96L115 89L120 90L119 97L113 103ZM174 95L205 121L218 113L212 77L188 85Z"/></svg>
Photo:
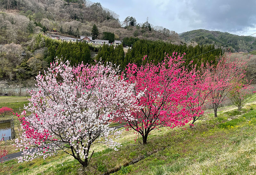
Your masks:
<svg viewBox="0 0 256 175"><path fill-rule="evenodd" d="M0 80L33 85L34 76L50 65L56 51L59 53L60 40L45 36L50 33L72 38L92 36L94 24L98 28L95 39L104 39L104 33L109 33L114 40L136 37L182 44L174 31L153 27L148 20L138 24L133 17L127 19L133 22L120 22L114 11L86 0L0 0ZM94 60L99 47L69 49L76 57L86 53L88 59Z"/></svg>

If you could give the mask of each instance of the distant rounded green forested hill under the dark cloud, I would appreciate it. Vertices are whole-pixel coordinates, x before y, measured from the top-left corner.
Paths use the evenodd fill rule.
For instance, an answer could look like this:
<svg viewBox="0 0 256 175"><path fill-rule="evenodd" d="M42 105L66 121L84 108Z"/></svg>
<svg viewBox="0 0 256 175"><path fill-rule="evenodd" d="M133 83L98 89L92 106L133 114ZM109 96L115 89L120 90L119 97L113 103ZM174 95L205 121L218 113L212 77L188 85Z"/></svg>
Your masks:
<svg viewBox="0 0 256 175"><path fill-rule="evenodd" d="M180 34L180 39L188 44L191 42L199 45L214 44L218 47L230 48L233 52L251 52L256 49L255 37L238 36L227 32L198 29Z"/></svg>

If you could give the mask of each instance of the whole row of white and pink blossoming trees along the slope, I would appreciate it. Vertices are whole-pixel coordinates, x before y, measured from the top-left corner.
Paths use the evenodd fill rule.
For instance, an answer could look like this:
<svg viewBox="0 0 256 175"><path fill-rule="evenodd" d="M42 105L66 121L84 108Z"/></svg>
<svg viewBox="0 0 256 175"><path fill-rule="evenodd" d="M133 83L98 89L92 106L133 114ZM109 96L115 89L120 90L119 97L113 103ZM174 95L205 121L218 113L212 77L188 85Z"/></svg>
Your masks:
<svg viewBox="0 0 256 175"><path fill-rule="evenodd" d="M115 138L122 131L109 127L113 121L125 123L126 130L140 134L146 144L152 130L182 127L191 121L192 127L204 115L205 106L211 106L217 117L225 100L241 110L251 97L245 61L225 54L216 58L217 64L198 67L184 56L174 52L158 63L145 56L143 64L129 63L125 73L106 62L51 63L37 75L26 111L16 113L22 134L15 142L25 155L19 160L45 158L61 150L86 167L93 144L115 150L121 146Z"/></svg>

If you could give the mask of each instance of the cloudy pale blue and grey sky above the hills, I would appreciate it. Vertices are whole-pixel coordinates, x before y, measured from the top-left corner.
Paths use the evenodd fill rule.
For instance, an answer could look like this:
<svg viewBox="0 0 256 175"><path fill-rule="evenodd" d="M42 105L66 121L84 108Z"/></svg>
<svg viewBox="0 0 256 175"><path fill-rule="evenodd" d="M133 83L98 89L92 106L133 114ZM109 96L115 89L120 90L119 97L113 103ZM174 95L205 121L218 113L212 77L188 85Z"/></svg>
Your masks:
<svg viewBox="0 0 256 175"><path fill-rule="evenodd" d="M195 29L237 35L256 33L255 0L92 0L115 11L124 21L135 17L177 33ZM256 37L256 34L252 35Z"/></svg>

